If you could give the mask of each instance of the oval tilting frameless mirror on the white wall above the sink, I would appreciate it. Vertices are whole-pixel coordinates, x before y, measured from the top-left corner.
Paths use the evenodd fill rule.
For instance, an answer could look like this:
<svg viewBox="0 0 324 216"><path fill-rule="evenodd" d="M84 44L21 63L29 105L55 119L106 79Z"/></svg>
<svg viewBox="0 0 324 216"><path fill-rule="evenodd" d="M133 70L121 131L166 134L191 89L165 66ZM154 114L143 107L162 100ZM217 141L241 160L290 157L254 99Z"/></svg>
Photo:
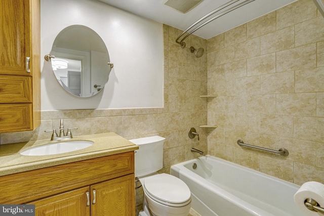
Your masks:
<svg viewBox="0 0 324 216"><path fill-rule="evenodd" d="M83 25L64 28L45 59L52 62L53 72L63 89L78 97L98 94L113 66L104 41Z"/></svg>

